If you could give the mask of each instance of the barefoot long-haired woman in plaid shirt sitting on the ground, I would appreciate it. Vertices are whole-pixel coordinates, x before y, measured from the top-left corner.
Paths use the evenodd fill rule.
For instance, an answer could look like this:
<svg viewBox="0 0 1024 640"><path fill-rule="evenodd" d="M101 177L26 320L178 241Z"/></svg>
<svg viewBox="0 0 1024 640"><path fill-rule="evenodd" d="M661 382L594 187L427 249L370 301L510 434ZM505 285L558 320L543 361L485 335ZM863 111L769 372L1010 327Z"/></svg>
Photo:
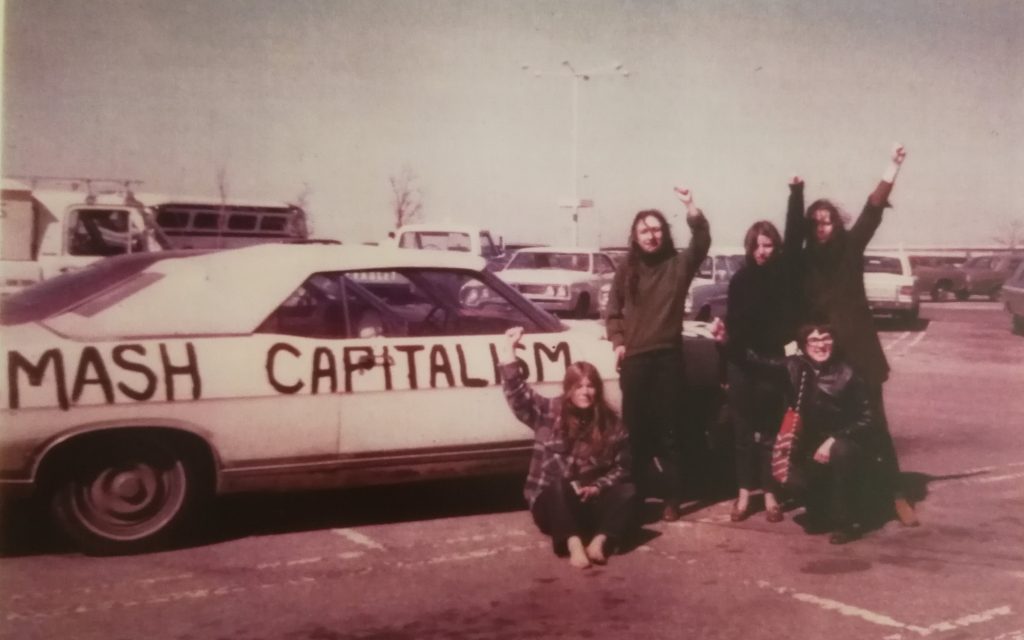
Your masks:
<svg viewBox="0 0 1024 640"><path fill-rule="evenodd" d="M566 369L560 396L537 394L515 357L522 334L521 327L508 330L500 355L509 407L535 432L523 489L529 511L556 553L567 548L572 566L604 564L635 521L626 429L589 362Z"/></svg>

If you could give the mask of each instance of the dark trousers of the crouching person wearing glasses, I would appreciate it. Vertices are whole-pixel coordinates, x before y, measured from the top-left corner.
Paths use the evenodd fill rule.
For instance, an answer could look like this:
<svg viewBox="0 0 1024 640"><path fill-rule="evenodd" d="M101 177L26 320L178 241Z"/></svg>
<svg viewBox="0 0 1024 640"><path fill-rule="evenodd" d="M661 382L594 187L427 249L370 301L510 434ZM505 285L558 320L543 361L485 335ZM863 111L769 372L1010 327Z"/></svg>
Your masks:
<svg viewBox="0 0 1024 640"><path fill-rule="evenodd" d="M802 449L790 488L802 498L809 516L827 520L836 528L848 527L859 522L864 512L868 458L860 444L836 438L828 462L817 463L813 456L822 441L818 438Z"/></svg>

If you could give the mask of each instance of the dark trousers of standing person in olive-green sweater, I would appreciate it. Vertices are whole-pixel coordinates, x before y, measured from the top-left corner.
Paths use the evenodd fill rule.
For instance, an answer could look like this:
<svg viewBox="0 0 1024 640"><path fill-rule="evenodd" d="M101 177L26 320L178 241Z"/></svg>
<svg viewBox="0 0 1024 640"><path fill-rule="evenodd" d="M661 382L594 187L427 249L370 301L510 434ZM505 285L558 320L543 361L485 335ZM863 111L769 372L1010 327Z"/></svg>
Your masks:
<svg viewBox="0 0 1024 640"><path fill-rule="evenodd" d="M679 431L683 422L683 351L662 349L623 360L623 421L638 478L657 472L662 498L682 501ZM653 468L653 469L652 469Z"/></svg>

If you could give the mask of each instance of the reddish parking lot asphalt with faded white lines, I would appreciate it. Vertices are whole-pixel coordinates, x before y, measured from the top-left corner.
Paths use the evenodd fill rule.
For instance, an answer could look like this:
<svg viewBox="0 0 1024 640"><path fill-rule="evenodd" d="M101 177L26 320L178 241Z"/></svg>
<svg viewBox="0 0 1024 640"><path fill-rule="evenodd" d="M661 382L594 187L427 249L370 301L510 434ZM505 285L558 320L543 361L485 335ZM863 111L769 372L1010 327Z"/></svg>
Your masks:
<svg viewBox="0 0 1024 640"><path fill-rule="evenodd" d="M220 501L210 540L134 557L8 522L0 636L1024 640L1024 338L998 303L922 315L881 325L920 527L834 547L722 500L575 570L521 478Z"/></svg>

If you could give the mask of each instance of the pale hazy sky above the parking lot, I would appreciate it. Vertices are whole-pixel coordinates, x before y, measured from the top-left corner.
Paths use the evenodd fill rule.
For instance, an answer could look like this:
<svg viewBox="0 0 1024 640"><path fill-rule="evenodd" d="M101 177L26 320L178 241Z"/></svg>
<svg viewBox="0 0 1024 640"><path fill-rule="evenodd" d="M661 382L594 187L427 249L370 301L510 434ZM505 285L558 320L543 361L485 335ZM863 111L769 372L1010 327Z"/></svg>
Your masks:
<svg viewBox="0 0 1024 640"><path fill-rule="evenodd" d="M5 14L4 175L214 196L223 166L238 198L308 184L315 233L358 243L390 228L388 177L408 166L424 221L562 244L567 59L630 72L580 87L584 244L624 244L639 209L681 220L675 184L721 246L781 222L794 173L856 213L895 141L908 159L879 244L990 244L1024 218L1018 0L7 0Z"/></svg>

